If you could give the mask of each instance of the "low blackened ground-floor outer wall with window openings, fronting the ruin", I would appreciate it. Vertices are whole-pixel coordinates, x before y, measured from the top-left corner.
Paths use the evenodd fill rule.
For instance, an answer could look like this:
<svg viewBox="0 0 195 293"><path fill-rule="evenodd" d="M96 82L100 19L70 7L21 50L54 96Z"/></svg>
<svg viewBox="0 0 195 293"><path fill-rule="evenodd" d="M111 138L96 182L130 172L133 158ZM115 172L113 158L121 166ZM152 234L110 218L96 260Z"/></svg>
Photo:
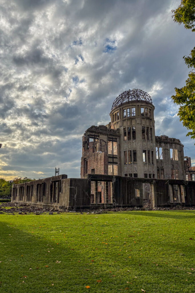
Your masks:
<svg viewBox="0 0 195 293"><path fill-rule="evenodd" d="M46 209L81 210L111 207L195 205L195 182L88 174L67 175L13 185L12 202Z"/></svg>

